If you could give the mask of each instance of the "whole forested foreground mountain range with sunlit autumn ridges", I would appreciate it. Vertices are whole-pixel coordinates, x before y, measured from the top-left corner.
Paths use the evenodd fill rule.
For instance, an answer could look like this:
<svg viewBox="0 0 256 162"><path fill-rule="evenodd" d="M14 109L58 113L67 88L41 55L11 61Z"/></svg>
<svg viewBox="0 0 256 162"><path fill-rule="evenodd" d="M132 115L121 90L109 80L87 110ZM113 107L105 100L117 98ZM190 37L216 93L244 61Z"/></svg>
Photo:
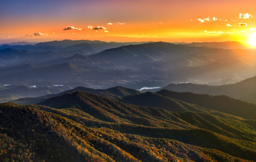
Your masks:
<svg viewBox="0 0 256 162"><path fill-rule="evenodd" d="M204 108L205 95L196 101L199 106L167 94L146 92L123 100L133 97L143 102L143 95L157 95L168 98L155 98L159 105L170 104L168 108L130 105L82 91L54 96L38 105L2 103L0 157L19 161L255 160L255 116L242 118ZM187 98L184 95L180 96ZM221 98L213 97L219 104L215 108L232 111L233 100L223 103ZM238 102L241 107L235 111L255 111L255 104Z"/></svg>

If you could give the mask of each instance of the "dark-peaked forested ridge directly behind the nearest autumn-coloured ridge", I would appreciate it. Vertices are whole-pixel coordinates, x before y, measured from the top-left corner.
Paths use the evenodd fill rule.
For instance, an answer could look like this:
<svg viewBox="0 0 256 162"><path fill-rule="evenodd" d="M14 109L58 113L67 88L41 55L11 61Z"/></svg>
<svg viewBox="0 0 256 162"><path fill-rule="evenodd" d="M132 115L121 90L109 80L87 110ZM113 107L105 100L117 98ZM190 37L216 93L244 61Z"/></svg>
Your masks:
<svg viewBox="0 0 256 162"><path fill-rule="evenodd" d="M97 126L97 128L101 128L103 127L103 125L107 126L108 124L110 124L107 127L112 128L112 123L118 123L113 126L113 129L121 133L129 133L142 136L147 135L148 137L154 138L170 138L179 142L184 142L200 147L219 149L220 151L224 151L225 153L229 153L237 157L244 157L246 159L253 159L253 154L255 154L254 152L249 153L249 150L251 149L250 147L250 149L247 148L248 156L244 156L244 153L242 154L241 152L239 152L242 151L242 148L239 147L243 146L238 147L238 145L235 144L238 142L238 140L236 139L243 139L245 141L248 140L246 141L248 144L250 143L249 141L252 142L252 139L250 140L249 137L240 136L240 133L238 133L239 131L236 131L237 128L234 129L234 127L231 126L231 123L234 122L245 126L246 124L243 124L241 122L243 119L234 117L232 115L220 113L214 110L208 110L205 112L169 112L163 109L157 109L152 107L138 107L135 105L127 105L122 102L111 100L109 98L81 91L74 92L73 94L64 94L62 96L52 97L43 102L40 102L39 104L58 109L48 109L47 111L65 115L66 117L72 118L75 121L82 120L84 122L84 125L86 126L93 125ZM65 112L62 111L62 109L65 109L65 111L69 111ZM74 110L78 111L77 114L86 112L93 118L88 120L88 117L86 117L86 119L83 119L82 117L79 117L79 115L73 116L70 113ZM97 123L93 123L92 120L99 121ZM130 124L128 124L127 122ZM172 125L171 123L174 125ZM135 127L133 127L133 124L142 124L143 126L134 125ZM158 124L160 124L161 126L165 125L165 128L161 126L161 128L159 128ZM153 125L155 125L156 128L152 127ZM196 128L193 128L194 126ZM208 129L208 131L206 131L205 129ZM237 133L237 135L235 135L235 132ZM224 136L226 137L221 137L220 134L225 134ZM242 134L245 134L245 132ZM233 137L234 139L231 140L230 137ZM253 137L253 134L251 134L251 137ZM210 142L209 140L215 142ZM225 144L226 142L227 145ZM249 145L252 146L254 142L255 141L253 141ZM228 147L229 145L232 145L233 147ZM229 149L225 149L227 147ZM233 151L236 153L232 153ZM247 152L244 149L243 151Z"/></svg>

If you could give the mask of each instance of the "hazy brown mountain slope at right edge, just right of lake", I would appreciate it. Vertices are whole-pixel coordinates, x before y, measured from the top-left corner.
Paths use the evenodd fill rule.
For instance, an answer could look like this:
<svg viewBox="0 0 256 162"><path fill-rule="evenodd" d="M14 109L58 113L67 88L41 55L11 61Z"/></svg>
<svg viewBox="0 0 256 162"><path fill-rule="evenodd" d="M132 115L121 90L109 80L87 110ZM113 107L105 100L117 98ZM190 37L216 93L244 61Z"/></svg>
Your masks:
<svg viewBox="0 0 256 162"><path fill-rule="evenodd" d="M177 92L193 92L209 95L227 95L239 100L256 103L256 76L243 80L239 83L209 86L191 83L169 84L162 89Z"/></svg>

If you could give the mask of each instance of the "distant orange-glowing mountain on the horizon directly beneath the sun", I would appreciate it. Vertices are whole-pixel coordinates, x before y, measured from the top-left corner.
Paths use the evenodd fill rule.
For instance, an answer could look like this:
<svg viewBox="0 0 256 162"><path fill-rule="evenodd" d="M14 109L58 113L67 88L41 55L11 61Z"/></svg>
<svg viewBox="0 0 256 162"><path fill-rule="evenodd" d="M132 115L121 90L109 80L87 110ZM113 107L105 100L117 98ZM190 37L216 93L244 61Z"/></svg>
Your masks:
<svg viewBox="0 0 256 162"><path fill-rule="evenodd" d="M223 48L223 49L250 49L250 46L245 43L237 42L237 41L226 41L226 42L192 42L186 45L194 45L198 47L207 46L207 47L215 47L215 48Z"/></svg>

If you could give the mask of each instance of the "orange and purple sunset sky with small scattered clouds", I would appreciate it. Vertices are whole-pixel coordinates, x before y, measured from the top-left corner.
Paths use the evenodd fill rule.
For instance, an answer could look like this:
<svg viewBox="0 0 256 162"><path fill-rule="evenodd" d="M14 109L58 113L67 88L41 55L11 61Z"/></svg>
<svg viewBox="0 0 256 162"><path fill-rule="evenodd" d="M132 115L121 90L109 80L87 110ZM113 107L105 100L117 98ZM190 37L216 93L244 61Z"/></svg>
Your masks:
<svg viewBox="0 0 256 162"><path fill-rule="evenodd" d="M255 43L255 0L8 0L0 2L0 43Z"/></svg>

